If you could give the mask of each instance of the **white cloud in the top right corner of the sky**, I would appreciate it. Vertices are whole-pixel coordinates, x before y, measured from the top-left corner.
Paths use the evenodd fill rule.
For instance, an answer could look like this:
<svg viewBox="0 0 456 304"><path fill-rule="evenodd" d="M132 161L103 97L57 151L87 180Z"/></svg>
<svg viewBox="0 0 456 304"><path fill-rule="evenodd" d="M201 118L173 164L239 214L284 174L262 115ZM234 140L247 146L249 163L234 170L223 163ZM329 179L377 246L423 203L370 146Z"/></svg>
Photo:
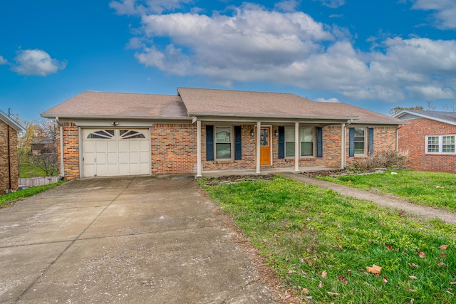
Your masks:
<svg viewBox="0 0 456 304"><path fill-rule="evenodd" d="M456 28L456 1L454 0L416 0L413 9L435 11L432 17L435 19L437 28Z"/></svg>

